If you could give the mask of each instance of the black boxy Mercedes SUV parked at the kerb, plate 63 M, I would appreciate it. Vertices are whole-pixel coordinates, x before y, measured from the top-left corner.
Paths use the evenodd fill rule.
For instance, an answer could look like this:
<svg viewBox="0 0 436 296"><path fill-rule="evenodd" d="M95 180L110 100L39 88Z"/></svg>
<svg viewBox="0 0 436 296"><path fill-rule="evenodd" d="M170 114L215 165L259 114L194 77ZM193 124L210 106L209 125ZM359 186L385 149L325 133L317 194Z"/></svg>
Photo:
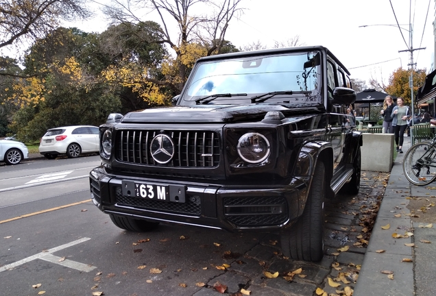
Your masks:
<svg viewBox="0 0 436 296"><path fill-rule="evenodd" d="M91 198L125 230L280 232L284 256L320 260L324 198L359 191L348 75L320 46L201 58L175 106L100 126Z"/></svg>

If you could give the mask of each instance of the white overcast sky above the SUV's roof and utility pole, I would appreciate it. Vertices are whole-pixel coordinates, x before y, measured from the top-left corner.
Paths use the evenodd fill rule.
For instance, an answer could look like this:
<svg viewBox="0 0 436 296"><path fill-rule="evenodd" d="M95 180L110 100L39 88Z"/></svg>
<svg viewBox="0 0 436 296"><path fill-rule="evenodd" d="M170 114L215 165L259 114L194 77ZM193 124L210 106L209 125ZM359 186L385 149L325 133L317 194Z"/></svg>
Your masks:
<svg viewBox="0 0 436 296"><path fill-rule="evenodd" d="M367 81L374 77L387 84L393 71L409 67L409 51L398 51L410 47L411 23L413 48L426 47L413 51L413 62L418 69L426 68L427 73L434 69L435 0L243 0L240 7L246 8L244 14L232 20L226 34L226 40L237 47L258 40L272 47L275 41L298 35L305 45L330 49L352 78ZM146 17L158 21L151 14ZM396 19L402 29L396 27ZM107 24L97 17L75 26L86 32L101 32Z"/></svg>

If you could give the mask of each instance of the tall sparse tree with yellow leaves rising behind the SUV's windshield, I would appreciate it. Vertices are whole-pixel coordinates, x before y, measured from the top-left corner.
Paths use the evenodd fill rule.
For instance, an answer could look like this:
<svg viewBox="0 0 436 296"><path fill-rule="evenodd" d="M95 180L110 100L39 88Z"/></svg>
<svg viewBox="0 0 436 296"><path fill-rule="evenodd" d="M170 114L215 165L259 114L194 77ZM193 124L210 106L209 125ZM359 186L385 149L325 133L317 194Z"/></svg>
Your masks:
<svg viewBox="0 0 436 296"><path fill-rule="evenodd" d="M164 68L166 82L178 95L189 75L189 67L198 56L210 56L221 53L226 44L225 36L230 20L243 11L239 8L241 0L112 0L112 7L105 13L114 23L139 23L143 20L135 12L141 9L157 12L162 26L162 38L156 40L168 45L175 52ZM208 11L209 14L191 14L191 10ZM175 21L175 23L172 23ZM172 24L177 29L170 27ZM178 40L173 35L178 32ZM174 70L177 69L177 72ZM174 76L176 75L176 76Z"/></svg>

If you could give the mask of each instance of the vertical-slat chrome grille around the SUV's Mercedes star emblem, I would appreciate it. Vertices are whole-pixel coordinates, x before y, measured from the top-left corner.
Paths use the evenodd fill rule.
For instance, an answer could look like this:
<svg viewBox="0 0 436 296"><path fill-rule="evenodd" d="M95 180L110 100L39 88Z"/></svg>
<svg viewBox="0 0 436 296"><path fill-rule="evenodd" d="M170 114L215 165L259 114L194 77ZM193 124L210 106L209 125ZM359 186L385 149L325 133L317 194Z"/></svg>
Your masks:
<svg viewBox="0 0 436 296"><path fill-rule="evenodd" d="M210 131L165 131L174 143L175 153L167 164L158 164L150 151L160 130L120 130L116 138L116 157L121 162L165 167L218 167L219 136Z"/></svg>

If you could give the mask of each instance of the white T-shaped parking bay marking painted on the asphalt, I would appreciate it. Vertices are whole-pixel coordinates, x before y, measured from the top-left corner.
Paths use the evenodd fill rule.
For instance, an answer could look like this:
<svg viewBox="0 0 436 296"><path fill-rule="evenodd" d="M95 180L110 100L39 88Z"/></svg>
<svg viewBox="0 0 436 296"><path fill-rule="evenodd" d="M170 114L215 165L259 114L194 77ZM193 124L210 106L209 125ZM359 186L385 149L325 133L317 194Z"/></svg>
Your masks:
<svg viewBox="0 0 436 296"><path fill-rule="evenodd" d="M38 253L34 256L30 256L30 257L24 258L23 260L19 260L19 261L16 261L14 263L0 267L0 272L8 270L8 269L14 269L15 267L18 267L21 264L25 264L25 263L30 262L30 261L35 260L35 259L42 259L42 260L53 262L53 263L56 263L56 264L59 264L59 265L65 266L65 267L77 269L79 271L85 271L85 272L92 271L93 269L96 269L97 267L93 267L92 265L86 265L86 264L83 264L80 262L74 262L72 260L64 260L62 262L59 262L60 257L51 255L52 253L54 253L56 251L60 251L61 249L66 249L67 247L72 247L73 245L84 243L84 242L86 242L86 240L90 240L90 238L80 238L78 240L72 241L71 243L66 243L64 245L60 245L59 247L53 247L53 249L43 251L43 252ZM54 258L56 258L57 260L54 260ZM67 262L64 263L65 261L67 261Z"/></svg>

